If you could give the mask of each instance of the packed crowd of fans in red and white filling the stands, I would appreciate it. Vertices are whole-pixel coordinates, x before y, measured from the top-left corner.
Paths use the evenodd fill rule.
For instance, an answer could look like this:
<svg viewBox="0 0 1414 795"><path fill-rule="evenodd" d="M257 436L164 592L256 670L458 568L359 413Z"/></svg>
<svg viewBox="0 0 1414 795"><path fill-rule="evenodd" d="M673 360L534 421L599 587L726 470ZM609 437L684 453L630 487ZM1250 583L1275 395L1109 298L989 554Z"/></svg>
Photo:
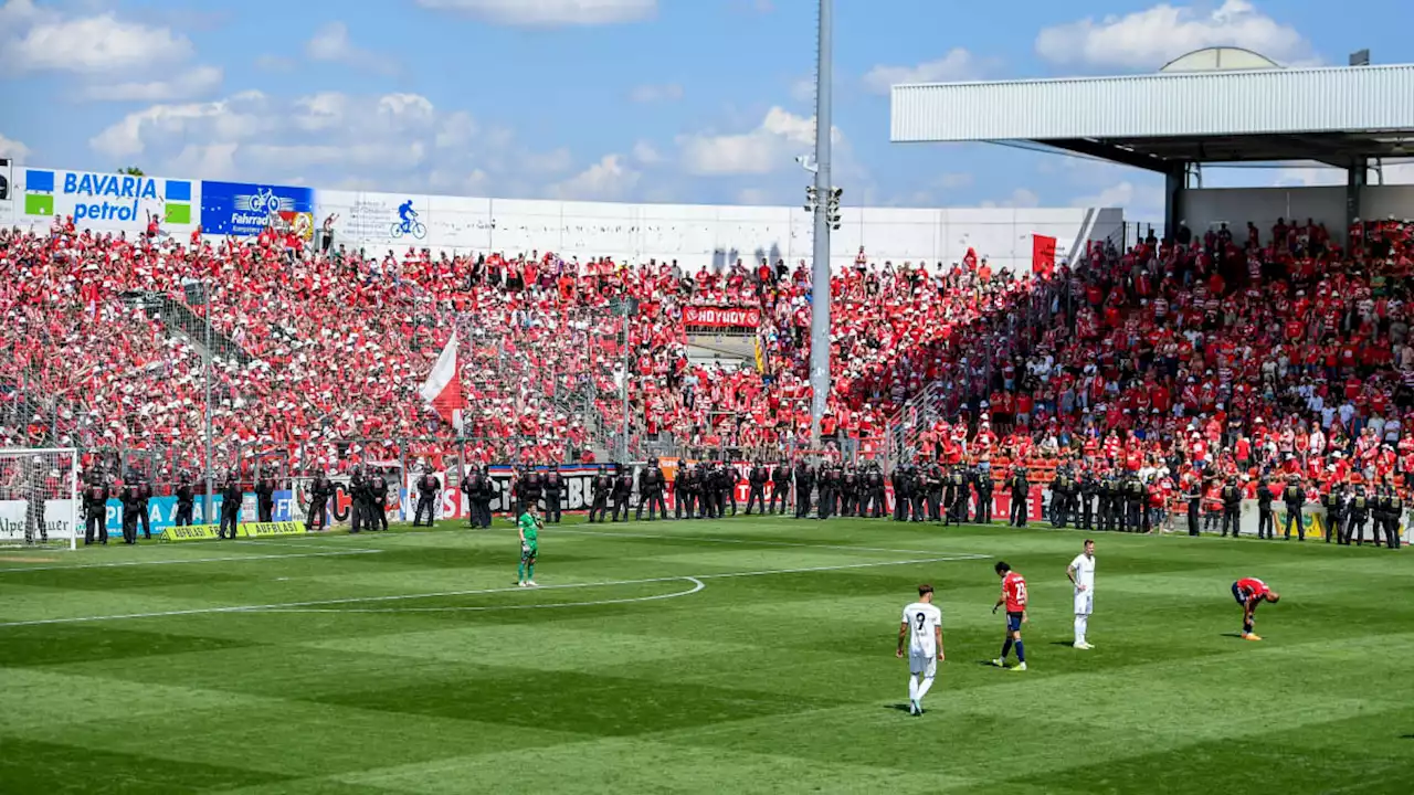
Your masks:
<svg viewBox="0 0 1414 795"><path fill-rule="evenodd" d="M1414 236L1278 222L1134 246L1012 277L960 263L878 263L861 250L830 284L834 362L826 437L885 440L945 463L1072 458L1143 470L1162 491L1261 470L1308 482L1414 470ZM134 297L208 287L221 467L290 471L455 451L475 461L570 461L622 420L635 437L776 453L810 427L800 263L363 256L279 235L189 240L76 229L0 232L0 446L161 451L197 467L202 340ZM624 349L621 301L636 301ZM690 361L691 306L758 310L755 361ZM417 389L452 330L468 409L462 441ZM936 399L922 407L911 399ZM908 412L899 410L909 406ZM902 416L902 423L891 420ZM853 444L853 443L857 443ZM994 467L1000 472L1000 467ZM998 475L1000 477L1000 475Z"/></svg>

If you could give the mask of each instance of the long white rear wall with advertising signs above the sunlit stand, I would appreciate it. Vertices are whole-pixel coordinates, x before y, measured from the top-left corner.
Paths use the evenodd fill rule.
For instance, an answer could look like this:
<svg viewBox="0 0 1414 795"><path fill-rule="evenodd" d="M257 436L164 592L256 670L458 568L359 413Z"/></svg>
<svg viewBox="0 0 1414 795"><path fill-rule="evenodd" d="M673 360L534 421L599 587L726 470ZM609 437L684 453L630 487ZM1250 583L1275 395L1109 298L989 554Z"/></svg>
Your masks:
<svg viewBox="0 0 1414 795"><path fill-rule="evenodd" d="M795 263L812 255L812 218L800 207L730 207L491 199L419 194L325 191L293 185L123 177L62 168L16 167L13 201L0 224L42 229L72 215L81 229L146 231L148 214L185 239L199 224L211 238L259 233L279 215L307 239L337 215L337 245L369 253L416 246L434 252L506 255L553 250L566 257L677 260L724 266L738 257ZM403 228L410 202L416 222ZM1056 256L1086 240L1117 239L1120 209L1085 208L857 208L841 211L831 262L846 267L860 246L875 262L960 262L967 249L993 267L1031 270L1032 239L1056 239Z"/></svg>

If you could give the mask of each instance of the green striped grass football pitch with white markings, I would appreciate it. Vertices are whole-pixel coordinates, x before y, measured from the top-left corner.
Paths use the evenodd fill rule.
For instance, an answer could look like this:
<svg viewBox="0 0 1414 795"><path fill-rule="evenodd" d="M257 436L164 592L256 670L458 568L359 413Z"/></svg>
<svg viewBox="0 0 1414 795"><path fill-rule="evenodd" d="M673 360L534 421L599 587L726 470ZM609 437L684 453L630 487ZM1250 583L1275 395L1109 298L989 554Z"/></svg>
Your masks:
<svg viewBox="0 0 1414 795"><path fill-rule="evenodd" d="M737 518L0 562L0 791L1414 792L1410 553ZM1029 671L993 668L995 560ZM1237 637L1230 584L1280 604ZM947 659L908 714L899 613ZM1012 654L1012 662L1015 655Z"/></svg>

